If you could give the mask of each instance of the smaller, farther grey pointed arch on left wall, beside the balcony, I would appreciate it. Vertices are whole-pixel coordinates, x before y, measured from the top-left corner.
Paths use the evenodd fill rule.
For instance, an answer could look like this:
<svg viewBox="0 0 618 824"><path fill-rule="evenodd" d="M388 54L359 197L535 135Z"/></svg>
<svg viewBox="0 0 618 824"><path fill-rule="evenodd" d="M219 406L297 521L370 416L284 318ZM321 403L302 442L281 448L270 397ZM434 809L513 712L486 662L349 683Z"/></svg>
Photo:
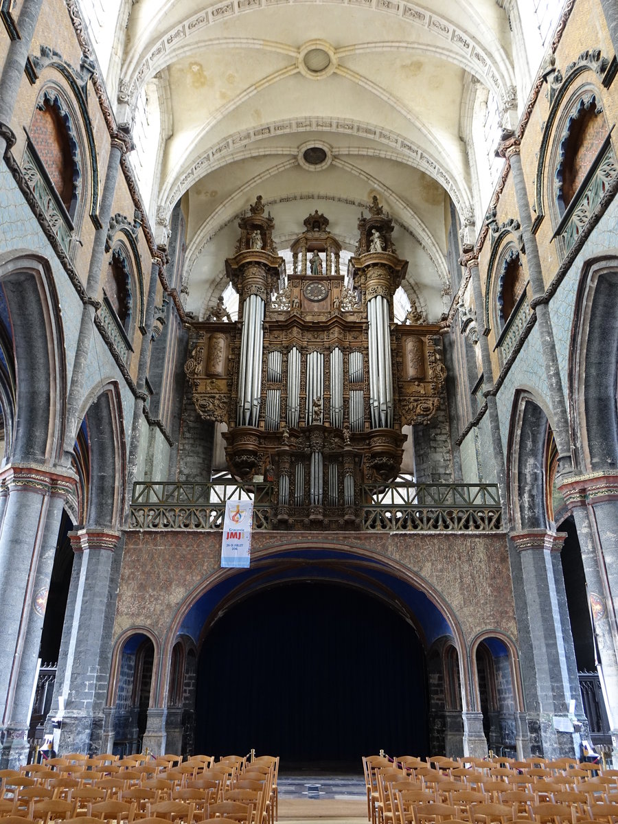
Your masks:
<svg viewBox="0 0 618 824"><path fill-rule="evenodd" d="M117 383L100 388L83 415L89 451L87 525L115 526L124 507L126 447Z"/></svg>

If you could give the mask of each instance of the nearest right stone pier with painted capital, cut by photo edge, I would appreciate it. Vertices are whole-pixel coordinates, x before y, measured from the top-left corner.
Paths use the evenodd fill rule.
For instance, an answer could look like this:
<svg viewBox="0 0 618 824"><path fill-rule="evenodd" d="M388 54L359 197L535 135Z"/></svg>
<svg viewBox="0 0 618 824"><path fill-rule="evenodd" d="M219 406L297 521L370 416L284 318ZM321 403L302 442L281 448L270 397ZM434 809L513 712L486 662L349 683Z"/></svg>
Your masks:
<svg viewBox="0 0 618 824"><path fill-rule="evenodd" d="M607 522L616 517L616 502L601 499L616 494L617 484L618 477L597 473L565 478L559 484L578 531L592 632L600 658L599 675L615 748L618 747L618 635L612 606L616 588L612 583L616 584L618 551L616 531L611 528L611 522Z"/></svg>

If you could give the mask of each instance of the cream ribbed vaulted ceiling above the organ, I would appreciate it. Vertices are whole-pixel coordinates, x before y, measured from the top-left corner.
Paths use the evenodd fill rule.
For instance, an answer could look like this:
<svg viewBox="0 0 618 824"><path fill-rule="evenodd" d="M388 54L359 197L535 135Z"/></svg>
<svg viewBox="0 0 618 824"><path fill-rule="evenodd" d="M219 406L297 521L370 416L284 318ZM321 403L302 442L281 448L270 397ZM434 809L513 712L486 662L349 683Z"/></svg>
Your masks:
<svg viewBox="0 0 618 824"><path fill-rule="evenodd" d="M451 202L478 213L464 136L475 91L514 85L495 0L138 0L120 76L165 116L157 217L183 198L186 308L226 285L237 219L262 194L280 250L314 209L353 251L372 195L395 220L405 288L438 319ZM466 119L468 120L466 124Z"/></svg>

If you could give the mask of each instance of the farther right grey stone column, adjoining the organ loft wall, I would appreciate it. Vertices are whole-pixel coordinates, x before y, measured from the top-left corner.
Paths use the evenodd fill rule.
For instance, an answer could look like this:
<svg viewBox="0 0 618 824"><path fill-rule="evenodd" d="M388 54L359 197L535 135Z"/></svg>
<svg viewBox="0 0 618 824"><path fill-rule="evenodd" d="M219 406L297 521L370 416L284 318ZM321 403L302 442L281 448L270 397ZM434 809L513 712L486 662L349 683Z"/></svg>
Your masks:
<svg viewBox="0 0 618 824"><path fill-rule="evenodd" d="M562 571L556 568L553 557L557 557L564 537L565 533L545 529L511 534L522 559L536 681L536 700L533 705L529 700L527 708L528 730L532 750L542 752L545 758L579 756L578 734L556 729L561 723L569 723L570 700L575 700L581 713Z"/></svg>

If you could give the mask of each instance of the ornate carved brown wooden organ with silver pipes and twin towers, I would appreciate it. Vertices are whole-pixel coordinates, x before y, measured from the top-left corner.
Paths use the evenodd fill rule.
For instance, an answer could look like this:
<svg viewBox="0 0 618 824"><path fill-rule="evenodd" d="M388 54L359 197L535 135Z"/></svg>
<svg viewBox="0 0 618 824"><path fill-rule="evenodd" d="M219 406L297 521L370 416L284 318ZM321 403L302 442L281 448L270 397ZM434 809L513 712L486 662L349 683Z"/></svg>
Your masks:
<svg viewBox="0 0 618 824"><path fill-rule="evenodd" d="M428 424L438 410L441 327L394 322L407 261L377 199L368 217L361 213L347 273L316 211L291 246L287 282L264 211L258 198L226 260L238 321L225 320L220 302L210 320L194 323L185 372L199 414L227 424L232 475L273 480L280 527L354 528L363 483L394 480L400 470L401 428Z"/></svg>

